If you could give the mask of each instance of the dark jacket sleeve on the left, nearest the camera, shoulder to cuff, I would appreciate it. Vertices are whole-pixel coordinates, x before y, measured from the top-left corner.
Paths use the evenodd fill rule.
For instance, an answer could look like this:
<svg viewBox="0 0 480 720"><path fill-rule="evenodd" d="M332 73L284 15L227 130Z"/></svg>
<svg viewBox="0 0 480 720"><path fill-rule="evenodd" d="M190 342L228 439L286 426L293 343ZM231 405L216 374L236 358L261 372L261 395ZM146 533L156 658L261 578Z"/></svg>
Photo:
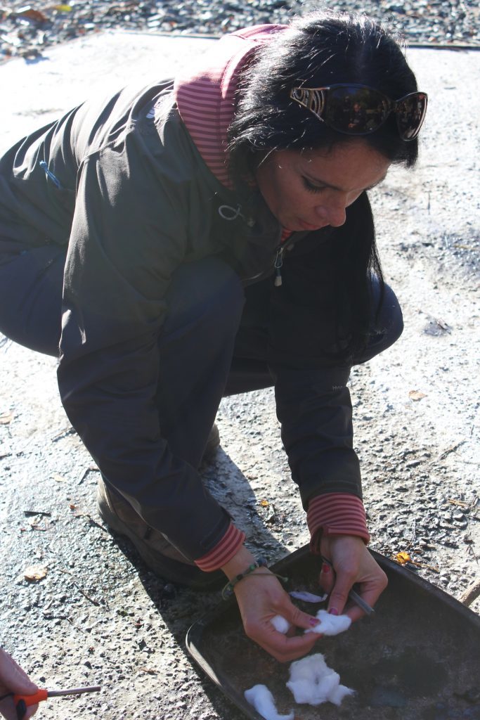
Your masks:
<svg viewBox="0 0 480 720"><path fill-rule="evenodd" d="M187 246L188 189L107 147L80 168L65 266L58 383L68 418L104 476L187 557L230 517L162 438L157 336ZM176 194L173 196L173 192ZM188 501L186 501L188 498Z"/></svg>

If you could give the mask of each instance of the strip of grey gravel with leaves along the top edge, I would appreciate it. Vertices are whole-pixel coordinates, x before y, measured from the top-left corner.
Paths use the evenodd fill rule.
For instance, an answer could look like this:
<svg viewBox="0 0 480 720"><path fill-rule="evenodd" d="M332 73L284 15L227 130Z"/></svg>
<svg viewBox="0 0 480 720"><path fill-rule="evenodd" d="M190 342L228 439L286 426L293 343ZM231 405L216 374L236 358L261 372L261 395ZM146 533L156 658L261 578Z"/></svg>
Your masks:
<svg viewBox="0 0 480 720"><path fill-rule="evenodd" d="M312 0L13 0L0 6L0 60L32 59L49 45L107 28L219 35L248 24L288 22L319 5ZM480 44L476 0L348 0L328 7L366 12L409 43Z"/></svg>

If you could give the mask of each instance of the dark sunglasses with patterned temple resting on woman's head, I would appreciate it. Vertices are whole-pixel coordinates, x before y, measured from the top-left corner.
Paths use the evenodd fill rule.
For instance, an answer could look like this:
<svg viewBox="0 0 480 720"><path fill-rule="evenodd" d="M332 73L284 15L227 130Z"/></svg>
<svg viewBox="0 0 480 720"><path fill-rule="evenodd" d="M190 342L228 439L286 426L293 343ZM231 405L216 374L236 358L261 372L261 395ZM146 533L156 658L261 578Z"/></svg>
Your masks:
<svg viewBox="0 0 480 720"><path fill-rule="evenodd" d="M325 88L296 87L290 97L332 130L345 135L369 135L394 112L402 140L415 140L427 112L427 94L412 92L399 100L366 85L338 84Z"/></svg>

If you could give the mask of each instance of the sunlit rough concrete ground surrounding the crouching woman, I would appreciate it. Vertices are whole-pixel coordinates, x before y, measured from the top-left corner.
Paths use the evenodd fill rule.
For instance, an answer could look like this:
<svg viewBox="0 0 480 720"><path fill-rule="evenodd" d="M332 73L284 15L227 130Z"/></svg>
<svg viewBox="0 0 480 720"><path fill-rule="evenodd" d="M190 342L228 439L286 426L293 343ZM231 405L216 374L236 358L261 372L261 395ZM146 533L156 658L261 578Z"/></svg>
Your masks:
<svg viewBox="0 0 480 720"><path fill-rule="evenodd" d="M75 73L82 92L94 85L100 52L100 74L117 79L126 47L125 35L117 35L50 48L48 62L19 62L17 75L15 61L0 68L0 81L9 79L19 97L15 109L1 109L6 132L40 125L58 103L70 105ZM128 37L124 64L133 73L135 48L151 63L155 39ZM184 42L165 40L161 52L184 60L192 51ZM193 42L203 48L208 41ZM388 557L408 552L409 570L458 597L478 577L480 557L480 107L478 97L461 91L478 78L480 58L410 50L409 60L430 94L420 164L415 172L392 171L372 194L384 271L402 303L405 331L389 351L353 370L350 388L372 548ZM61 80L65 68L68 82ZM458 122L445 125L453 116ZM222 449L204 480L250 546L273 562L306 544L272 392L225 400L218 422ZM219 594L155 577L127 541L109 534L96 515L96 467L58 400L55 361L9 341L0 346L0 443L0 637L39 683L103 688L99 696L43 703L42 717L241 720L185 647L186 630ZM25 580L32 564L46 568L42 580ZM480 600L471 608L479 613ZM407 599L404 612L406 621L415 612ZM463 718L479 720L466 710ZM336 708L325 706L324 716L336 717ZM302 710L302 717L313 716ZM386 708L387 719L404 720L402 708Z"/></svg>

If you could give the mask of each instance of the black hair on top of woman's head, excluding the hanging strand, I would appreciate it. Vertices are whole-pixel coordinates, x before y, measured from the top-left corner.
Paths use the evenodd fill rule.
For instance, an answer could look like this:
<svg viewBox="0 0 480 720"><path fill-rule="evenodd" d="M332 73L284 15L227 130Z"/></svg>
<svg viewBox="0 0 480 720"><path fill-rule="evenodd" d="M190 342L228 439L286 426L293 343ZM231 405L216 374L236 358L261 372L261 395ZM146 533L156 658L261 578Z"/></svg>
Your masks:
<svg viewBox="0 0 480 720"><path fill-rule="evenodd" d="M397 42L363 15L315 12L261 46L240 76L235 117L227 133L232 175L252 171L271 150L332 148L352 141L290 99L294 86L358 83L391 99L417 90ZM399 137L394 115L363 142L393 163L415 165L417 140Z"/></svg>

